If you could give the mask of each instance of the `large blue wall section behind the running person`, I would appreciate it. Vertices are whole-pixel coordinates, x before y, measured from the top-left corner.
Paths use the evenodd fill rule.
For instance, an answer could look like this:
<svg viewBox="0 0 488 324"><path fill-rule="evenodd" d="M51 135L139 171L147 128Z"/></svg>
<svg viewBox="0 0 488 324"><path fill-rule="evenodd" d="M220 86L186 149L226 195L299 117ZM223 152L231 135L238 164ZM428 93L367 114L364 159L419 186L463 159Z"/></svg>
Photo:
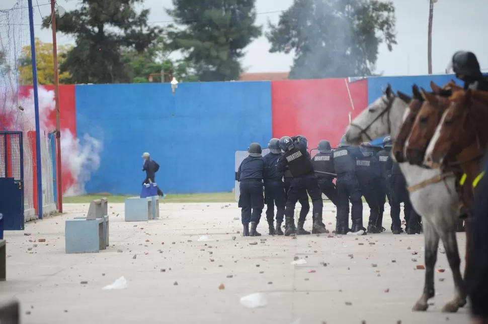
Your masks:
<svg viewBox="0 0 488 324"><path fill-rule="evenodd" d="M143 152L165 192L230 191L235 151L267 144L271 123L271 82L76 86L77 137L103 143L88 193L139 193Z"/></svg>

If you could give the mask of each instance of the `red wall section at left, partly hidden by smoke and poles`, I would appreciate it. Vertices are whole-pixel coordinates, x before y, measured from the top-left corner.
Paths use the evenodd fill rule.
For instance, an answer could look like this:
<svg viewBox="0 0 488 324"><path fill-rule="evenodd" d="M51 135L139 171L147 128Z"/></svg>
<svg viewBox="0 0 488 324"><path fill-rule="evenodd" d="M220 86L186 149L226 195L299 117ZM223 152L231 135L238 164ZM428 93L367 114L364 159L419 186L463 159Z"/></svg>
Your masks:
<svg viewBox="0 0 488 324"><path fill-rule="evenodd" d="M54 85L43 85L47 90L54 91ZM23 86L20 88L19 95L26 97L29 95L29 91L32 86ZM48 130L52 131L56 128L56 111L53 110L48 116ZM69 130L74 138L76 138L76 100L75 100L75 85L73 84L60 84L59 85L59 123L61 126L61 139L63 137L63 131ZM62 162L62 161L61 161ZM68 168L64 166L62 168L62 186L63 192L66 191L73 183L74 179Z"/></svg>

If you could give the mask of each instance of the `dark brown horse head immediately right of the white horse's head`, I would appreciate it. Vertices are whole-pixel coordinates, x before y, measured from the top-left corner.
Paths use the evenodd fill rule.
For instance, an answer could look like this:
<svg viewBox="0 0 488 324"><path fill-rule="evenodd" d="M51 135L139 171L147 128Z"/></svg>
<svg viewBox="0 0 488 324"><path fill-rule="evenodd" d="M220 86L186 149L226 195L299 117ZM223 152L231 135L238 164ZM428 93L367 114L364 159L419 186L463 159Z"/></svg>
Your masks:
<svg viewBox="0 0 488 324"><path fill-rule="evenodd" d="M391 149L392 156L397 163L406 162L404 154L405 142L409 138L410 132L412 131L412 127L415 123L415 119L417 118L417 114L419 114L422 104L424 103L424 97L420 93L419 87L415 84L412 86L412 95L413 97L411 100L407 101L406 98L403 99L400 96L400 92L398 91L398 96L403 101L409 103L409 110L407 116L405 116L403 119L403 124L401 124L400 131L398 132Z"/></svg>

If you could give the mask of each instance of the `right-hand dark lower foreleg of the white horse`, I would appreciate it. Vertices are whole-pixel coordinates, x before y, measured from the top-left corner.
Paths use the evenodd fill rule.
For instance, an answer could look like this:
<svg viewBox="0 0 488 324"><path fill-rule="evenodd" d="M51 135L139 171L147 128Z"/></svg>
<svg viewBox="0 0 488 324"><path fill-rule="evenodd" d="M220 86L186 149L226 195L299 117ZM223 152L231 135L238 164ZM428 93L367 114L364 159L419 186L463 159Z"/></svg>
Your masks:
<svg viewBox="0 0 488 324"><path fill-rule="evenodd" d="M451 268L452 277L454 279L454 299L445 304L444 307L442 307L442 311L454 313L459 307L466 304L466 289L459 269L461 259L459 258L459 250L457 248L456 233L454 232L454 229L447 233L443 233L441 240L446 249L447 261L449 262L449 267Z"/></svg>

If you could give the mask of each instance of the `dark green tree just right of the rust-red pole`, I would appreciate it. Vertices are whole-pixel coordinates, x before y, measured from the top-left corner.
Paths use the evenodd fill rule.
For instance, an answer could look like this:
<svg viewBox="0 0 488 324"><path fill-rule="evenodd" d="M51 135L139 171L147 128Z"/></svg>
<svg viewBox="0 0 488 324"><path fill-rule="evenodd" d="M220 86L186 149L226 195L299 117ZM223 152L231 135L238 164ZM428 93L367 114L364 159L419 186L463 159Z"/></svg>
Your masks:
<svg viewBox="0 0 488 324"><path fill-rule="evenodd" d="M149 10L139 14L134 7L143 0L80 0L77 10L56 19L57 30L76 39L60 65L75 83L130 82L122 53L143 52L160 35L159 27L149 27ZM51 18L43 21L50 28Z"/></svg>

